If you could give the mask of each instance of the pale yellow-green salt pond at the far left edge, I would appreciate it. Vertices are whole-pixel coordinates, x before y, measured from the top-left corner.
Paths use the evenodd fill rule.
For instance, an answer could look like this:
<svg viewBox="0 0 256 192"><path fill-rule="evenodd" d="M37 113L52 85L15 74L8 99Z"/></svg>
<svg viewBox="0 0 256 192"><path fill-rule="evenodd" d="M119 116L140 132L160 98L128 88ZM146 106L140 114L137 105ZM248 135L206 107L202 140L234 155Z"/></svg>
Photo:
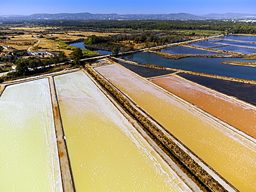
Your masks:
<svg viewBox="0 0 256 192"><path fill-rule="evenodd" d="M48 79L0 97L0 191L62 191Z"/></svg>

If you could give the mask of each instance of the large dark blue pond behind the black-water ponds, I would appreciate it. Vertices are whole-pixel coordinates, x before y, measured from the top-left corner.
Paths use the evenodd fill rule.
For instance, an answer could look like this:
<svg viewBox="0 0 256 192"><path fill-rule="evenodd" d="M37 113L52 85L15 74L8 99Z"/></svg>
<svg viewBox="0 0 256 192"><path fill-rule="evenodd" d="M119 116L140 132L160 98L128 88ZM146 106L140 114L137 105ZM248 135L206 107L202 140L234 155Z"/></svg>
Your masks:
<svg viewBox="0 0 256 192"><path fill-rule="evenodd" d="M223 75L226 77L237 77L241 79L256 80L256 68L221 64L221 61L255 62L256 60L233 57L185 57L181 59L166 59L152 52L138 52L135 54L122 56L121 58L138 61L143 64L156 64L158 66L165 66L167 68L179 68L183 70L192 70L212 75Z"/></svg>

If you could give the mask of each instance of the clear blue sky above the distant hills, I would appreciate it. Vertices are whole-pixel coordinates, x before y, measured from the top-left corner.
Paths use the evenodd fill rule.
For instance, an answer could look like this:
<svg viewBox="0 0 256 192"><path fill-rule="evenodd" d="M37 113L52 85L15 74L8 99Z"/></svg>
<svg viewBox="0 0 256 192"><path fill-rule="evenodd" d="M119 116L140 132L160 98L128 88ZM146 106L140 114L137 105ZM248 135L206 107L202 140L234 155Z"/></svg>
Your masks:
<svg viewBox="0 0 256 192"><path fill-rule="evenodd" d="M255 13L256 0L2 0L0 15L34 13Z"/></svg>

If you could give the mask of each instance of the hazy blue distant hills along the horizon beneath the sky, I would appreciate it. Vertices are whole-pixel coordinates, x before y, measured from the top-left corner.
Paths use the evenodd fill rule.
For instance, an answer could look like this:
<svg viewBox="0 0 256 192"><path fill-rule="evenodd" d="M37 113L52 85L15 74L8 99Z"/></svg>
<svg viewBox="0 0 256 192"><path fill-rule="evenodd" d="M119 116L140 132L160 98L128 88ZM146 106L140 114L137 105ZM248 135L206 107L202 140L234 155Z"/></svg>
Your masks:
<svg viewBox="0 0 256 192"><path fill-rule="evenodd" d="M256 19L256 14L244 14L244 13L225 13L217 14L211 13L203 15L201 17L192 15L185 12L171 13L171 14L129 14L118 15L112 14L92 14L89 12L81 13L57 13L46 14L38 13L33 15L5 15L0 16L0 20L201 20L201 19Z"/></svg>

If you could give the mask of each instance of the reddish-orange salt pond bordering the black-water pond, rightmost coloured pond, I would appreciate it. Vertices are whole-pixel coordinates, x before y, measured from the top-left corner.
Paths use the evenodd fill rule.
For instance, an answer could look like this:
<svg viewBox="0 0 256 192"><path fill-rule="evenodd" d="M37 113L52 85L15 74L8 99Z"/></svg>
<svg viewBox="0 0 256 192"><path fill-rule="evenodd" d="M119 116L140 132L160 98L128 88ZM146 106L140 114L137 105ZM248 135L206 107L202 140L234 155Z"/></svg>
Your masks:
<svg viewBox="0 0 256 192"><path fill-rule="evenodd" d="M181 77L161 77L152 82L256 138L255 108Z"/></svg>

